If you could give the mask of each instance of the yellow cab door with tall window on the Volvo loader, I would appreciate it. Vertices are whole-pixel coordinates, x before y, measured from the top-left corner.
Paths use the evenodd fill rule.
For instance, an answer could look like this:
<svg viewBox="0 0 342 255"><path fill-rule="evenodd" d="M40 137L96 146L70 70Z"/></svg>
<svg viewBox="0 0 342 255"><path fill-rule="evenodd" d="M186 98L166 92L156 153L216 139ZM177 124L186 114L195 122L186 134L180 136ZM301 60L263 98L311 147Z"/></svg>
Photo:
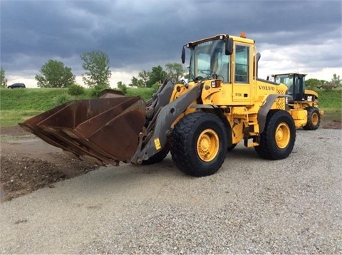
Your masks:
<svg viewBox="0 0 342 255"><path fill-rule="evenodd" d="M250 105L252 98L252 76L251 45L236 43L234 45L232 65L232 101L234 105Z"/></svg>

